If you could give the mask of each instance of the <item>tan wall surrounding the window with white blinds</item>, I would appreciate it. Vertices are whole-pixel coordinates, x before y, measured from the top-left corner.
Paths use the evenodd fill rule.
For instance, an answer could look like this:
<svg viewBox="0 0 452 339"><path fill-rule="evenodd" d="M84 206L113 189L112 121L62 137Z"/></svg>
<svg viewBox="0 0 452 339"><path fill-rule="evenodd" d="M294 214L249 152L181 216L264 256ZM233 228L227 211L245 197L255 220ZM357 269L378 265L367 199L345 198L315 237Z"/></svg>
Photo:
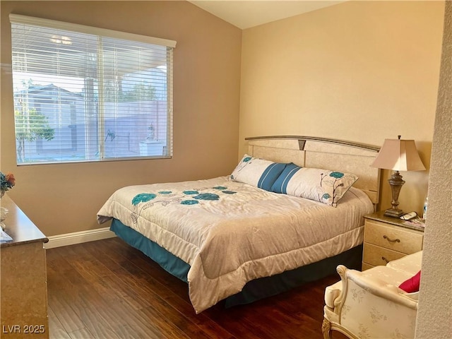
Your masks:
<svg viewBox="0 0 452 339"><path fill-rule="evenodd" d="M170 160L16 166L9 13L176 40ZM226 175L237 164L242 31L186 1L1 1L1 171L8 192L46 234L97 225L121 186Z"/></svg>

